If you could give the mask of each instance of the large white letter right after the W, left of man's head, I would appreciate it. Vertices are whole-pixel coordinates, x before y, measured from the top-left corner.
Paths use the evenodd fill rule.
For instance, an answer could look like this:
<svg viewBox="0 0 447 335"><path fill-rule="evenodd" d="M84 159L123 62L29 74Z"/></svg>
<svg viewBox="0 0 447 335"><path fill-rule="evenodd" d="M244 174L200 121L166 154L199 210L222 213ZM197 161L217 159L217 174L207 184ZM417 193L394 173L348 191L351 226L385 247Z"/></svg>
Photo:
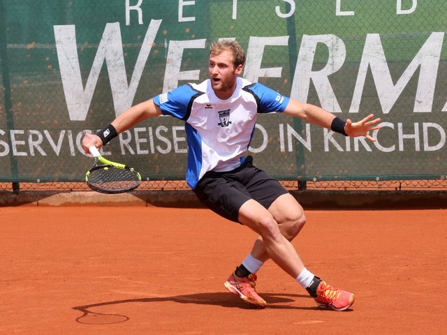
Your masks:
<svg viewBox="0 0 447 335"><path fill-rule="evenodd" d="M184 49L204 49L206 39L202 40L171 40L166 63L163 92L175 89L179 80L198 80L200 70L180 71Z"/></svg>

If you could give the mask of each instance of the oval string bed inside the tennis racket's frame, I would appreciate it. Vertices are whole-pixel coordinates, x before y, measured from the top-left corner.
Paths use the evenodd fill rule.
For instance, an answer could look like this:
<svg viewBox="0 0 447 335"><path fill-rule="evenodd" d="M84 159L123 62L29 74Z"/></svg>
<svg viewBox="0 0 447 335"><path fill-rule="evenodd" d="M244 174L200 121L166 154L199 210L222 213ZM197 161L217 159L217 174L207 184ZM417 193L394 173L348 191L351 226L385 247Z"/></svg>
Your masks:
<svg viewBox="0 0 447 335"><path fill-rule="evenodd" d="M105 165L92 170L89 173L88 182L96 188L122 190L135 188L140 184L140 178L132 170L123 170Z"/></svg>

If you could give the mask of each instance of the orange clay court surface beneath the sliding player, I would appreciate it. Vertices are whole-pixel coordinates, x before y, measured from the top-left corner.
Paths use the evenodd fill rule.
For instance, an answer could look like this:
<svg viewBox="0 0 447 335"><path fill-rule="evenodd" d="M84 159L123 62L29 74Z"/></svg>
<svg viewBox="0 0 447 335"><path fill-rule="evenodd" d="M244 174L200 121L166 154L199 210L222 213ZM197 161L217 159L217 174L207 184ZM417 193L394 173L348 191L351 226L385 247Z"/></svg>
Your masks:
<svg viewBox="0 0 447 335"><path fill-rule="evenodd" d="M447 211L307 211L307 268L356 294L316 307L273 262L268 301L223 288L256 235L207 209L0 207L0 334L447 334Z"/></svg>

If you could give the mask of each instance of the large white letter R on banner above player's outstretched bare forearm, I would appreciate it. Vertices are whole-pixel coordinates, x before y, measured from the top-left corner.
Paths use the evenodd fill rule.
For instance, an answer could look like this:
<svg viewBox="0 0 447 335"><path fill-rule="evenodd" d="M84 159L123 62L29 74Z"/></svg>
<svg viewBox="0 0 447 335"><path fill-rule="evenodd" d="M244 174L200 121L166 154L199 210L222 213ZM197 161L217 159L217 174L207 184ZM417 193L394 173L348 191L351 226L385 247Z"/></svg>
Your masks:
<svg viewBox="0 0 447 335"><path fill-rule="evenodd" d="M329 60L323 69L312 71L318 43L323 43L328 47ZM302 36L291 97L298 101L307 102L309 85L312 80L318 98L320 98L321 107L330 112L342 112L328 77L342 68L345 59L346 46L341 38L334 35Z"/></svg>

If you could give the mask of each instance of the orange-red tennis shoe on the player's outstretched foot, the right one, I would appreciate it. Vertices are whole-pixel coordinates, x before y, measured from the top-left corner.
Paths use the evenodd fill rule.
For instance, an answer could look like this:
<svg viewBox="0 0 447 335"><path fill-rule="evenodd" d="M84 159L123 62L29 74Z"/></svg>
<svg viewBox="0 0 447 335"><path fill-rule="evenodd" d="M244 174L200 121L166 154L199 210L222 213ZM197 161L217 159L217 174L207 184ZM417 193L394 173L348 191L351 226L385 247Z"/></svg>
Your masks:
<svg viewBox="0 0 447 335"><path fill-rule="evenodd" d="M321 281L316 289L316 304L321 308L332 308L334 311L346 311L356 301L356 296L350 292L339 290Z"/></svg>

